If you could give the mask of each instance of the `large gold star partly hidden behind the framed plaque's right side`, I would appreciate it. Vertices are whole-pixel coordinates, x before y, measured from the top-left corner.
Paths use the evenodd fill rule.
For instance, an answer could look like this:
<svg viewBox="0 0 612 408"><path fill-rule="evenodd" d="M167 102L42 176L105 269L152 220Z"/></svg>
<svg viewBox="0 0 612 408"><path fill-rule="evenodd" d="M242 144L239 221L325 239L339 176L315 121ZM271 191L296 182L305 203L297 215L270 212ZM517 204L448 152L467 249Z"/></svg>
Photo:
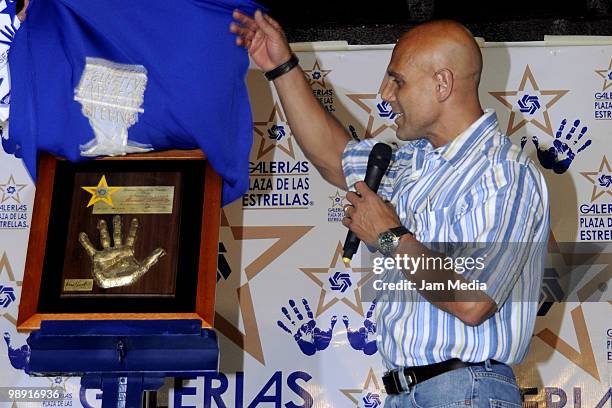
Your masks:
<svg viewBox="0 0 612 408"><path fill-rule="evenodd" d="M240 256L228 256L227 261L233 272L227 280L220 280L217 283L217 294L229 293L229 296L235 294L237 301L217 302L215 329L263 365L266 362L253 304L251 283L260 272L269 268L272 262L312 228L311 226L232 227L225 212L221 213L219 241L223 242L228 254L241 254L244 245L241 241L275 240L246 266L242 266ZM236 303L241 316L237 316Z"/></svg>

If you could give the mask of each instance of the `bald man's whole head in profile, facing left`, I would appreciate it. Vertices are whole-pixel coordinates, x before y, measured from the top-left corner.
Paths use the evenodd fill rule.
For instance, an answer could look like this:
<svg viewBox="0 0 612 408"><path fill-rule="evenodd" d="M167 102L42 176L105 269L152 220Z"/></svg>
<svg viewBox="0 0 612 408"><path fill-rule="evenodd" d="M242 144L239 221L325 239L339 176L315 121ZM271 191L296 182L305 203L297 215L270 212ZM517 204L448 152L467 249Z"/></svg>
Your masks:
<svg viewBox="0 0 612 408"><path fill-rule="evenodd" d="M472 34L454 21L414 27L393 49L382 97L398 114L397 137L427 137L441 146L482 115L482 55Z"/></svg>

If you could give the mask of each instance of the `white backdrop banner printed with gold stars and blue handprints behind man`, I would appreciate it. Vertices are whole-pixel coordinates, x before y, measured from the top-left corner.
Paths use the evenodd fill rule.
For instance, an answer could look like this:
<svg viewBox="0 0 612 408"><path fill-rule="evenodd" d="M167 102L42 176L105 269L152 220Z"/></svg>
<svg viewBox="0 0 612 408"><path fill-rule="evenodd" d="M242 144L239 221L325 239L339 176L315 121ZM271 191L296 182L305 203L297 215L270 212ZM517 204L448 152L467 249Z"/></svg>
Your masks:
<svg viewBox="0 0 612 408"><path fill-rule="evenodd" d="M390 54L389 47L299 53L313 94L354 138L395 140L394 114L379 93ZM483 55L483 107L497 111L550 192L546 302L530 353L515 369L525 407L609 407L611 304L597 300L611 298L612 45L486 44ZM167 404L380 407L375 316L359 293L368 271L347 269L340 259L345 193L304 157L263 75L253 69L248 84L250 186L224 209L220 231L215 324L222 372L169 382ZM99 406L99 395L81 390L78 378L29 378L20 369L26 336L14 324L34 187L21 163L3 153L0 194L0 383L57 384L71 394L63 406ZM578 263L567 242L598 243L600 250ZM553 279L571 270L579 278L567 287ZM166 403L165 393L160 398Z"/></svg>

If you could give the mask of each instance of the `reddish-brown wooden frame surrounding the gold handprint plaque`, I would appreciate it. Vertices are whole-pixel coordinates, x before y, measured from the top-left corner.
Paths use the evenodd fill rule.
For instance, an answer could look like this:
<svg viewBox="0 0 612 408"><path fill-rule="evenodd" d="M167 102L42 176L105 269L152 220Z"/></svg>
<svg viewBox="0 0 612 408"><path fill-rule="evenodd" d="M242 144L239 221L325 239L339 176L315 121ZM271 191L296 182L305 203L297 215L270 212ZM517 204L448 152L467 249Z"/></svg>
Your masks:
<svg viewBox="0 0 612 408"><path fill-rule="evenodd" d="M19 303L17 330L28 332L40 328L42 320L170 320L199 319L202 327L212 327L215 305L215 286L217 277L217 254L221 216L221 177L212 169L201 150L168 150L118 157L97 158L95 161L183 161L199 160L205 162L202 222L200 227L199 258L197 262L197 284L195 302L187 312L95 312L95 313L41 313L38 306L52 210L53 189L56 182L56 169L63 159L42 154L38 162L38 180L32 211L30 236L24 279Z"/></svg>

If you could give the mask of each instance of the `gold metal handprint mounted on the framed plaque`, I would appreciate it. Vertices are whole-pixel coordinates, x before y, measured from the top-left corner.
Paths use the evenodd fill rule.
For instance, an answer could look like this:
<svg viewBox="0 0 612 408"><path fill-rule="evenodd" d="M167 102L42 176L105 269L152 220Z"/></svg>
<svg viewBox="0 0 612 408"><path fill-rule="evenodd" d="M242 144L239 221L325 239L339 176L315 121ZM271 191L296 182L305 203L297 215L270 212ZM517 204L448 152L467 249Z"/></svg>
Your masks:
<svg viewBox="0 0 612 408"><path fill-rule="evenodd" d="M138 219L132 218L128 237L123 245L121 238L121 217L113 217L113 244L110 244L110 236L106 221L98 220L100 231L100 243L102 250L98 251L91 245L86 233L79 234L79 242L89 254L93 264L93 278L101 288L114 288L131 285L157 263L159 258L166 254L162 248L157 248L144 260L137 261L134 258L134 241L138 231Z"/></svg>

